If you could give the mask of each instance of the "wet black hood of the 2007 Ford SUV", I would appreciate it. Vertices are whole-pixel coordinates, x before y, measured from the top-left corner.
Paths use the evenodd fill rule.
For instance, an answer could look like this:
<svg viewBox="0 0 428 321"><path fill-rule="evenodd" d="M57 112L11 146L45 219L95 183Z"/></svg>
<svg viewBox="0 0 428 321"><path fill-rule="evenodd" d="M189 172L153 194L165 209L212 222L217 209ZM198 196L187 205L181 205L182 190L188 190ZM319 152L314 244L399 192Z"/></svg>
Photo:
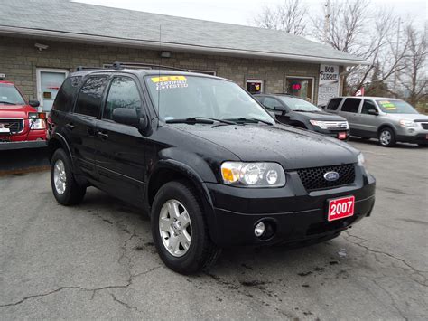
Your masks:
<svg viewBox="0 0 428 321"><path fill-rule="evenodd" d="M357 162L358 150L348 144L294 127L256 124L171 126L227 148L246 162L276 162L284 169Z"/></svg>

